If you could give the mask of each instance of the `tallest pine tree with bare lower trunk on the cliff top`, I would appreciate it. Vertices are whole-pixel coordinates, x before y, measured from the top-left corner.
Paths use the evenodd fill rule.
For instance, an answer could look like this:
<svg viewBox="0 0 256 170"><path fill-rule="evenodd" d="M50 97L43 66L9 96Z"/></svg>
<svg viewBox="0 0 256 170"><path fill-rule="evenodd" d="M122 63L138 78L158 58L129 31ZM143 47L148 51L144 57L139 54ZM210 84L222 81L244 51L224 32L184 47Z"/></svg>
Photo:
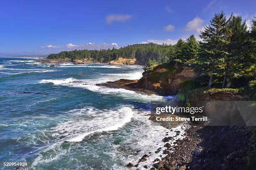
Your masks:
<svg viewBox="0 0 256 170"><path fill-rule="evenodd" d="M215 66L218 65L223 56L228 55L225 47L229 43L230 31L227 27L225 14L223 12L215 14L210 20L210 24L204 27L200 37L203 39L200 60L209 63L207 71L210 71L208 88L212 85L212 76L215 73ZM209 68L210 66L210 68Z"/></svg>

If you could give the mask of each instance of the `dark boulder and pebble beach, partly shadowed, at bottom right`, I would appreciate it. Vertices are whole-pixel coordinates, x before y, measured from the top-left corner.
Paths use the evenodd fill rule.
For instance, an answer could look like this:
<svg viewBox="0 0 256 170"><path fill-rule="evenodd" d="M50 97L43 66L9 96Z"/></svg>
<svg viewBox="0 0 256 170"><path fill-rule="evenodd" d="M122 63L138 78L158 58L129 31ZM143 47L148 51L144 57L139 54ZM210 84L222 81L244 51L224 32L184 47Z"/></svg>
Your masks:
<svg viewBox="0 0 256 170"><path fill-rule="evenodd" d="M238 126L195 126L185 129L183 139L174 140L176 136L162 139L165 145L155 153L162 152L161 159L156 158L153 166L144 165L150 170L240 170L249 161L248 153L255 147L251 143L253 127ZM173 131L172 129L170 131ZM164 150L162 150L164 148ZM146 161L145 154L138 164ZM128 163L128 168L138 164Z"/></svg>

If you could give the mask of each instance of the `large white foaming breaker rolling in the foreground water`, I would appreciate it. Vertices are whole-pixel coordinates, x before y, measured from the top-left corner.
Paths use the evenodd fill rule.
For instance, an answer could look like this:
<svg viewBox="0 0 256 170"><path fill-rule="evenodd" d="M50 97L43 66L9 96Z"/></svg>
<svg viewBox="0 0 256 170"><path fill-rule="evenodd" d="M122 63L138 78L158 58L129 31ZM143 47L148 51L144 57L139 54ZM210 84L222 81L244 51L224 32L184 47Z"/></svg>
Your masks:
<svg viewBox="0 0 256 170"><path fill-rule="evenodd" d="M38 163L48 163L57 160L61 155L66 154L67 150L61 149L60 145L64 141L68 142L80 142L87 135L93 133L111 132L122 128L131 121L133 117L133 110L129 106L121 106L118 110L97 110L93 107L87 107L82 109L75 109L68 112L69 116L72 116L73 120L58 124L48 133L52 133L52 136L57 140L55 143L43 148L43 153L49 150L53 150L54 154L50 158L44 158L41 154L33 161L32 167ZM76 115L79 116L76 117ZM82 115L86 115L82 118ZM88 119L91 118L91 119Z"/></svg>

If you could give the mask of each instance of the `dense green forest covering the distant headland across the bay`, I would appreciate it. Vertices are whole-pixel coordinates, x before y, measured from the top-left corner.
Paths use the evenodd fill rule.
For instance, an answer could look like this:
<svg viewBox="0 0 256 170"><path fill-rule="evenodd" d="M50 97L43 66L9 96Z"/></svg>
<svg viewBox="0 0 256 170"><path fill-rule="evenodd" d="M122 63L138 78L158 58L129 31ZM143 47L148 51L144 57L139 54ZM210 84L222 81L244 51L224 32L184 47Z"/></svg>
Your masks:
<svg viewBox="0 0 256 170"><path fill-rule="evenodd" d="M116 60L119 57L136 58L138 64L144 65L148 60L154 60L158 63L166 62L169 56L174 52L173 45L158 45L154 43L148 44L134 44L119 49L113 48L112 50L73 50L62 51L58 54L51 54L47 58L71 58L71 60L81 60L88 58L92 61L109 62Z"/></svg>

